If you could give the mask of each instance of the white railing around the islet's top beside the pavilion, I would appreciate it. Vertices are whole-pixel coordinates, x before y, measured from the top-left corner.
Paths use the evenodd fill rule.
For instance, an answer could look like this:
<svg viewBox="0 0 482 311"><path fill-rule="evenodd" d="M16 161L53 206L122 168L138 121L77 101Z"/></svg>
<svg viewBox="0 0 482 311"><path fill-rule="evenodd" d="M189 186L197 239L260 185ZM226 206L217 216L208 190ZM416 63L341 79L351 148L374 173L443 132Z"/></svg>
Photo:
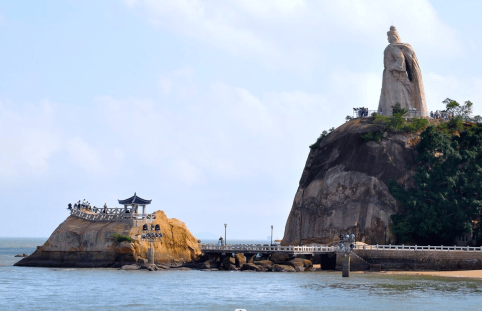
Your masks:
<svg viewBox="0 0 482 311"><path fill-rule="evenodd" d="M70 209L70 214L90 221L118 221L122 219L156 219L156 214L125 213L123 208L93 208L92 211L85 209Z"/></svg>

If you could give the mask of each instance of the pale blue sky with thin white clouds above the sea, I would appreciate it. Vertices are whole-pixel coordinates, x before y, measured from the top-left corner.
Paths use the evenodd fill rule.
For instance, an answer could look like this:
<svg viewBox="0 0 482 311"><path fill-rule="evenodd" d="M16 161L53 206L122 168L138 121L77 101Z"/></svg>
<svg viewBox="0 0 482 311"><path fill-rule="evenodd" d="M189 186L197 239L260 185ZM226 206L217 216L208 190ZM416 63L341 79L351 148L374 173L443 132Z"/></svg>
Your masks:
<svg viewBox="0 0 482 311"><path fill-rule="evenodd" d="M478 1L0 1L0 236L137 192L198 238L282 238L308 146L376 110L386 33L429 110L482 115ZM229 241L228 241L229 242Z"/></svg>

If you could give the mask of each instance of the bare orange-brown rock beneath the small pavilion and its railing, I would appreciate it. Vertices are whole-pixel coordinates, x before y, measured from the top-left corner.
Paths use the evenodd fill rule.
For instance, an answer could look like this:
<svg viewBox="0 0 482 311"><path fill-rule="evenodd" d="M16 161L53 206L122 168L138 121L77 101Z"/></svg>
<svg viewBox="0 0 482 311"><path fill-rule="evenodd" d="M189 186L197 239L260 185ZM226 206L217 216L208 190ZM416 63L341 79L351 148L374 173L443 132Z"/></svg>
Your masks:
<svg viewBox="0 0 482 311"><path fill-rule="evenodd" d="M159 224L163 237L155 242L156 263L185 262L201 255L196 238L185 224L168 219L157 211L154 225ZM112 234L134 238L133 243L118 243ZM120 267L125 264L146 263L149 258L149 242L141 242L142 225L129 223L94 222L69 216L52 233L47 242L33 254L23 258L17 266L49 267Z"/></svg>

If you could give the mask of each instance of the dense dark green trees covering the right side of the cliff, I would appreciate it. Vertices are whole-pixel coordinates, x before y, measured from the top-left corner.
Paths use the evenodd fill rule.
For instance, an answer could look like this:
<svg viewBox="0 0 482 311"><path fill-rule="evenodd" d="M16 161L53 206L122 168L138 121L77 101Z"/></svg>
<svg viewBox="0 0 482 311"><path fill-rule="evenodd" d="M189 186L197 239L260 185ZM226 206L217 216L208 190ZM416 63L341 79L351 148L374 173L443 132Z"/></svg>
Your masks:
<svg viewBox="0 0 482 311"><path fill-rule="evenodd" d="M417 145L415 188L389 182L403 211L392 215L399 243L451 245L482 213L482 126L460 131L430 126ZM450 127L448 127L450 128ZM452 127L453 129L453 127Z"/></svg>

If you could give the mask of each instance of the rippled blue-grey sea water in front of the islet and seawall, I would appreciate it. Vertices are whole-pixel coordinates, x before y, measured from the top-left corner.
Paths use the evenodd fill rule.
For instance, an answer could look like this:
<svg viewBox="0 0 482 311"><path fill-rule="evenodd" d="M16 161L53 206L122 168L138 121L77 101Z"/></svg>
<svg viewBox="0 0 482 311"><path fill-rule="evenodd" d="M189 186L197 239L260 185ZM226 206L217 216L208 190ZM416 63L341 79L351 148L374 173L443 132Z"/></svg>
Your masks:
<svg viewBox="0 0 482 311"><path fill-rule="evenodd" d="M46 239L0 238L0 310L479 310L482 281L383 273L14 267Z"/></svg>

